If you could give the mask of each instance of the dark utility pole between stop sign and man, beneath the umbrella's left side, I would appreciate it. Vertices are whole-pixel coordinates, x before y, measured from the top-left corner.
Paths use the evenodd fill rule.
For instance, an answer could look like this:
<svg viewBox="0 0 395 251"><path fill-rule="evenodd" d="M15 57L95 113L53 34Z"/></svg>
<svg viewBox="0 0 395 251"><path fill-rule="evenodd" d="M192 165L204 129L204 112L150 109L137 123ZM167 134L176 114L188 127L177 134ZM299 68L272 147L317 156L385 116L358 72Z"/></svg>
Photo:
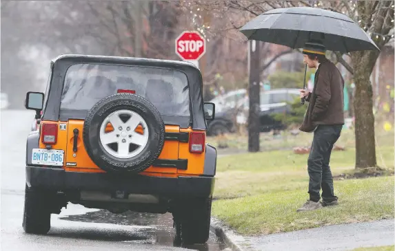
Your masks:
<svg viewBox="0 0 395 251"><path fill-rule="evenodd" d="M259 41L248 41L248 97L250 102L250 109L248 111L248 151L258 152L259 134L261 126L259 122L259 113L261 113L261 98L260 98L260 75L261 64L259 55Z"/></svg>

